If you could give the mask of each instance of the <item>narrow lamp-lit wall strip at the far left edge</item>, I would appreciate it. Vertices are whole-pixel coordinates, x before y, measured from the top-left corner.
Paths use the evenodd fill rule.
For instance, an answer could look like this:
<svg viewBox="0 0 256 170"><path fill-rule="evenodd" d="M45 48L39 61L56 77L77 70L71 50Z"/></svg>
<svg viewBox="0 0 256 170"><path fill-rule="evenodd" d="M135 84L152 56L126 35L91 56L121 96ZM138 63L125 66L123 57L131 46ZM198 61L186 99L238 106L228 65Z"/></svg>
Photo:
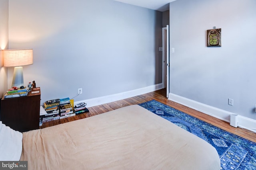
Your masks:
<svg viewBox="0 0 256 170"><path fill-rule="evenodd" d="M0 0L0 98L7 90L7 68L3 67L2 49L8 49L8 6L9 0Z"/></svg>

